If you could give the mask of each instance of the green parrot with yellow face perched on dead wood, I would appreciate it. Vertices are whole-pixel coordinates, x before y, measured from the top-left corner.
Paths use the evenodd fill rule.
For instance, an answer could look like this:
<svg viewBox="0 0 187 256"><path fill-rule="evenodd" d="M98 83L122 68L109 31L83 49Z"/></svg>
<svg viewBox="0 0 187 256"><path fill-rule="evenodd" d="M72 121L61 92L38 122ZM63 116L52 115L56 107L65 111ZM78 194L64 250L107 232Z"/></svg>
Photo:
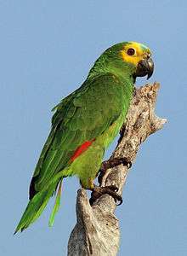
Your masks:
<svg viewBox="0 0 187 256"><path fill-rule="evenodd" d="M76 175L82 188L94 191L105 150L127 116L135 79L149 79L153 73L150 55L148 47L136 42L111 46L82 86L53 109L52 128L31 179L30 201L14 233L32 224L56 193L49 226L54 224L64 177Z"/></svg>

